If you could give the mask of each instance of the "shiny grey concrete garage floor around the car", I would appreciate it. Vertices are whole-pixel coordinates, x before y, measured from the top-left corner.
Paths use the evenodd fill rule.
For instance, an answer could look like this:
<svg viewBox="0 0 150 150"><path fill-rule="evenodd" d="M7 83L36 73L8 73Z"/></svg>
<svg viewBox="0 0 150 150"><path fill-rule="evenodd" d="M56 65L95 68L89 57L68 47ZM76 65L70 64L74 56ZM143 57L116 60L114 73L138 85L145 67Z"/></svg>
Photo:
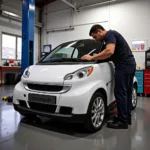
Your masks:
<svg viewBox="0 0 150 150"><path fill-rule="evenodd" d="M0 88L0 96L12 95L13 87ZM80 125L49 119L29 122L0 101L0 150L149 150L150 98L139 97L133 112L133 125L128 130L105 126L88 134Z"/></svg>

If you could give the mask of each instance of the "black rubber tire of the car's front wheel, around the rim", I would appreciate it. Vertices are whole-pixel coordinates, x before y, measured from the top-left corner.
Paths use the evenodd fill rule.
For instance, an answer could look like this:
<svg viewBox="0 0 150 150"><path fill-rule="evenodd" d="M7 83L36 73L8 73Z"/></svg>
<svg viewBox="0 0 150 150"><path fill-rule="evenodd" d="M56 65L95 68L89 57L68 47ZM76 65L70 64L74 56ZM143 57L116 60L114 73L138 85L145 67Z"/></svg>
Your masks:
<svg viewBox="0 0 150 150"><path fill-rule="evenodd" d="M93 109L93 105L96 101L97 98L101 98L102 101L103 101L103 107L104 107L104 113L103 113L103 120L101 121L102 123L98 126L98 127L95 127L93 125L93 122L92 122L92 109ZM107 105L106 105L106 98L104 97L104 95L101 93L101 92L96 92L93 96L92 96L92 99L91 99L91 102L89 104L89 108L88 108L88 112L87 112L87 116L86 116L86 120L85 120L85 128L90 131L90 132L97 132L99 131L103 124L104 124L104 121L105 121L105 117L106 117L106 112L107 112ZM96 116L97 117L97 116Z"/></svg>

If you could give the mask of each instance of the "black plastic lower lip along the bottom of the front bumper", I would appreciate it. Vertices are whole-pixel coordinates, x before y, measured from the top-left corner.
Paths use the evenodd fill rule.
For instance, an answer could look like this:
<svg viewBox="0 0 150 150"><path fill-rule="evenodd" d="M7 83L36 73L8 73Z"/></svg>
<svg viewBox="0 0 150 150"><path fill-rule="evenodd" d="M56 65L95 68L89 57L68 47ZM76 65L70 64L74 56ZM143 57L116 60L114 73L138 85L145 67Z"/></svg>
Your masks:
<svg viewBox="0 0 150 150"><path fill-rule="evenodd" d="M43 117L48 117L48 118L54 118L54 119L59 119L59 120L65 120L67 122L76 122L76 123L84 123L86 114L78 114L78 115L63 115L63 114L53 114L53 113L46 113L46 112L40 112L37 110L29 109L22 107L20 105L14 105L14 109L18 111L21 115L27 116L27 115L39 115Z"/></svg>

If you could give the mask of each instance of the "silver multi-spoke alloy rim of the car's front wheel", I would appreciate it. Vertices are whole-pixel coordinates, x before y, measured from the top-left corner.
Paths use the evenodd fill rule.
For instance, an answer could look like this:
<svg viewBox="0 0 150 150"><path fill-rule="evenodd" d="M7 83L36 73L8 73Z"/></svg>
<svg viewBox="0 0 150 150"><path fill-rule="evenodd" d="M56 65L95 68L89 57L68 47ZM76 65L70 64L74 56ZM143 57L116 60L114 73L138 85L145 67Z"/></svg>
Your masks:
<svg viewBox="0 0 150 150"><path fill-rule="evenodd" d="M95 128L101 126L104 120L105 105L102 97L97 97L92 106L91 120Z"/></svg>

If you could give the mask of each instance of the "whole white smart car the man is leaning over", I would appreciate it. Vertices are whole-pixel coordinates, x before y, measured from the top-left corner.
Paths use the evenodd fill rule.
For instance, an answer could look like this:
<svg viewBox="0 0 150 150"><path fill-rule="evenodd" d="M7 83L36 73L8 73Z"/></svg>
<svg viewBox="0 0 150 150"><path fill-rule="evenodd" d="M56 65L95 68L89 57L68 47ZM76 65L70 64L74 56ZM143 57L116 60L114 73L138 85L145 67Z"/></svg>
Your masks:
<svg viewBox="0 0 150 150"><path fill-rule="evenodd" d="M115 101L114 65L80 58L103 49L103 43L91 39L56 47L24 71L14 90L15 110L23 116L82 122L93 132L100 130L109 106ZM133 109L137 105L136 91L134 78Z"/></svg>

